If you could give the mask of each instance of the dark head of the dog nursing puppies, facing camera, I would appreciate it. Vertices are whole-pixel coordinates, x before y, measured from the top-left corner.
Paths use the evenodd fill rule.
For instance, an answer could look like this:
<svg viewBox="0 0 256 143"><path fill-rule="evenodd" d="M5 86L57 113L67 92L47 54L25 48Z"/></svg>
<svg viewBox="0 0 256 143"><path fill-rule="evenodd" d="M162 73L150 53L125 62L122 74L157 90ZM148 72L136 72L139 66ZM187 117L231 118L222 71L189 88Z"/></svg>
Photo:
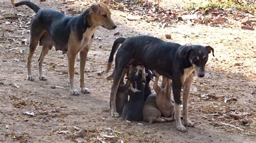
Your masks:
<svg viewBox="0 0 256 143"><path fill-rule="evenodd" d="M197 77L204 77L208 54L211 52L214 56L214 49L210 46L184 45L178 49L178 56L180 59L189 60Z"/></svg>

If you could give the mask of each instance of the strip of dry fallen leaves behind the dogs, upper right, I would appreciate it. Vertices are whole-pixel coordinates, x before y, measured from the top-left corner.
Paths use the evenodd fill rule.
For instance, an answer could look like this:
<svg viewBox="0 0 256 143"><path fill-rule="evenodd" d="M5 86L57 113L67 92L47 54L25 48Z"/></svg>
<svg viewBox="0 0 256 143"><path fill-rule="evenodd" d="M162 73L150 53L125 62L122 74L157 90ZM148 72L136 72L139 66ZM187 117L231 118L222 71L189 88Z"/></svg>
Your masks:
<svg viewBox="0 0 256 143"><path fill-rule="evenodd" d="M255 18L248 11L240 11L236 9L230 10L191 10L185 11L184 8L176 6L173 8L162 8L153 3L114 3L112 9L125 11L132 16L128 16L128 20L144 19L146 22L157 22L156 26L164 28L171 26L173 23L181 22L190 25L206 24L214 27L233 26L237 23L241 24L242 29L254 30Z"/></svg>

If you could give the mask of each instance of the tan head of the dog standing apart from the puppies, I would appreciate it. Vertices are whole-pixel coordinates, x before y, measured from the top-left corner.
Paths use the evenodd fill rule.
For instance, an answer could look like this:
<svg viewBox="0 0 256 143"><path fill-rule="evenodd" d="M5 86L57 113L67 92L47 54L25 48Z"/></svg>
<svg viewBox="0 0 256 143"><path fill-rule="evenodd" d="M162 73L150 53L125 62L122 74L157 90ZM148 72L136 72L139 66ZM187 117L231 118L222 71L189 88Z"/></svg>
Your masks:
<svg viewBox="0 0 256 143"><path fill-rule="evenodd" d="M103 26L108 30L113 30L117 27L111 19L111 12L109 10L109 6L105 3L96 3L92 4L89 8L91 12L91 24L92 26Z"/></svg>

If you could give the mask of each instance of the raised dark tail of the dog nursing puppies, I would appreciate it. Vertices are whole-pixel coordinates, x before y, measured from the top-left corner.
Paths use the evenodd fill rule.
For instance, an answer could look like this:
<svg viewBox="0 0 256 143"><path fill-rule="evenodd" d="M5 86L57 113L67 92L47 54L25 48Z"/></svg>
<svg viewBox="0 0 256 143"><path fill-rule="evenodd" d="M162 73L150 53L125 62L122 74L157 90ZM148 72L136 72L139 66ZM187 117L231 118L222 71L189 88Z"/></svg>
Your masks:
<svg viewBox="0 0 256 143"><path fill-rule="evenodd" d="M122 44L123 42L125 41L125 38L117 38L115 41L114 41L114 44L112 46L112 49L111 49L111 53L109 55L109 63L107 63L107 68L105 70L105 73L109 73L109 70L110 68L112 67L112 62L113 62L113 59L114 59L114 53L117 52L117 48L119 47L120 44Z"/></svg>

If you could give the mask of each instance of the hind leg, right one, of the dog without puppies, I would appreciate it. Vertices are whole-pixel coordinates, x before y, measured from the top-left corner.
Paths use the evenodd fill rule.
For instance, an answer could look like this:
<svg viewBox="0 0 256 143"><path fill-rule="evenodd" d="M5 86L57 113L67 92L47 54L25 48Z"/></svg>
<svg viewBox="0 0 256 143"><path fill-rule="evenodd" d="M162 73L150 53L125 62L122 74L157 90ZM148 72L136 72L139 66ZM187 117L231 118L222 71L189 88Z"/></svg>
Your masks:
<svg viewBox="0 0 256 143"><path fill-rule="evenodd" d="M44 61L44 56L48 53L49 49L50 48L48 46L43 45L40 58L38 59L39 60L39 63L38 63L39 80L41 80L41 81L46 81L46 77L43 74L42 65L43 65L43 61Z"/></svg>

